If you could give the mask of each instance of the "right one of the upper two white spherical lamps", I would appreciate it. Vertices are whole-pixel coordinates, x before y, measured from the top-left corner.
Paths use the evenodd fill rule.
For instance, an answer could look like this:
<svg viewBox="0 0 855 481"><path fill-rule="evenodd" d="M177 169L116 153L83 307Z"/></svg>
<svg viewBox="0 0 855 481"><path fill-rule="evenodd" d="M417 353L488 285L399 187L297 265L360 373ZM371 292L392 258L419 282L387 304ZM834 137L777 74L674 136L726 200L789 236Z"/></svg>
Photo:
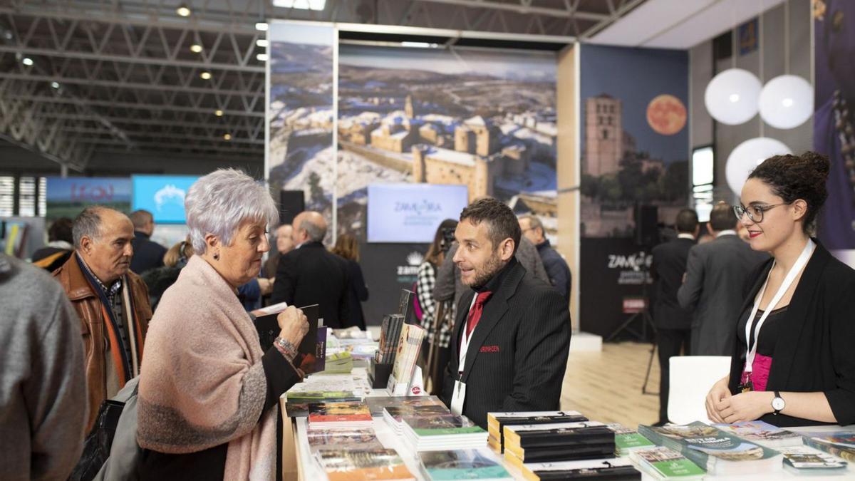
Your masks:
<svg viewBox="0 0 855 481"><path fill-rule="evenodd" d="M813 87L798 75L781 75L760 91L760 116L774 128L794 128L813 114Z"/></svg>

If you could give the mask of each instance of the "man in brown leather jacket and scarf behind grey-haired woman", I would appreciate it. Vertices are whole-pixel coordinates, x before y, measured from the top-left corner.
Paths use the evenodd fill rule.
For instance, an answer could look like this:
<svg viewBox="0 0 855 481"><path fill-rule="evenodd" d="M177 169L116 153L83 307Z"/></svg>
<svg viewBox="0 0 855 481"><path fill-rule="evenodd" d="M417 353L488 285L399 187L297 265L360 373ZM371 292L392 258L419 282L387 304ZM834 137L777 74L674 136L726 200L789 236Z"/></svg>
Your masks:
<svg viewBox="0 0 855 481"><path fill-rule="evenodd" d="M74 255L53 272L80 317L89 415L139 375L151 318L145 283L130 270L133 223L112 209L87 207L74 219Z"/></svg>

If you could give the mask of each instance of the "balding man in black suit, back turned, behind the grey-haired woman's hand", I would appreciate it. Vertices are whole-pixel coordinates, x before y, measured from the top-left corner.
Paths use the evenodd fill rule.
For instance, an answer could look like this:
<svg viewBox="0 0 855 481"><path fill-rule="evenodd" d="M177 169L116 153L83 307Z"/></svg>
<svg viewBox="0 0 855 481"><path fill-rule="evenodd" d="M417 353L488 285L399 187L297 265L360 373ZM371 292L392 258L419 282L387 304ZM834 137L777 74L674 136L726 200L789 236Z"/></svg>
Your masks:
<svg viewBox="0 0 855 481"><path fill-rule="evenodd" d="M314 211L300 212L292 223L294 246L279 258L270 302L289 306L318 305L324 325L349 327L347 320L347 267L344 258L323 246L327 221Z"/></svg>

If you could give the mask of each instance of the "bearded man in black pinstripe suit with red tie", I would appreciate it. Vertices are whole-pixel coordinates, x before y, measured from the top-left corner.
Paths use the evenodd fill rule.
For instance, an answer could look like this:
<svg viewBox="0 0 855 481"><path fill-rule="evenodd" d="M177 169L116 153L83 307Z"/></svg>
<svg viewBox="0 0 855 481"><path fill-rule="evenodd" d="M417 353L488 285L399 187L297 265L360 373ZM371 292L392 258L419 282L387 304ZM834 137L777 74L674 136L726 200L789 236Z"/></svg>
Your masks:
<svg viewBox="0 0 855 481"><path fill-rule="evenodd" d="M460 214L457 304L443 401L486 428L486 413L559 409L570 346L567 300L516 261L520 224L496 199Z"/></svg>

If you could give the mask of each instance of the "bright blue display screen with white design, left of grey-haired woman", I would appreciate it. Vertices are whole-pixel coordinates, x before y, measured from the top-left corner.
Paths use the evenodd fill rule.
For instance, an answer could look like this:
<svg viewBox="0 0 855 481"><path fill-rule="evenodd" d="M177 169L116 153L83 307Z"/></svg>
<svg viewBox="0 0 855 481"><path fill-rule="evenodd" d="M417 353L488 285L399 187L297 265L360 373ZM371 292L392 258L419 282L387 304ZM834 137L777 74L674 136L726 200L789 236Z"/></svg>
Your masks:
<svg viewBox="0 0 855 481"><path fill-rule="evenodd" d="M197 180L193 175L133 175L131 209L150 211L155 223L186 223L184 198Z"/></svg>

